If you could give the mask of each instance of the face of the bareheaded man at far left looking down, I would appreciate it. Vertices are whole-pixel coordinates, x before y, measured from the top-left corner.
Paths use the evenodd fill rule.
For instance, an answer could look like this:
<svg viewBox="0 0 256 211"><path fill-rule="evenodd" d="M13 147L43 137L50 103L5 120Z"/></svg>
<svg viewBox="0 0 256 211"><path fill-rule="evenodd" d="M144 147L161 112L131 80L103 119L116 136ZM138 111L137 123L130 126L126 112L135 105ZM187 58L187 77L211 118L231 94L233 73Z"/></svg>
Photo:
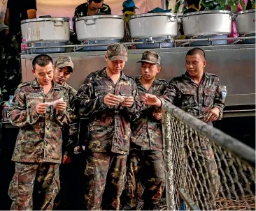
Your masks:
<svg viewBox="0 0 256 211"><path fill-rule="evenodd" d="M40 65L35 65L35 70L32 70L34 75L36 75L36 79L38 84L41 86L49 85L53 79L53 64L48 63L45 67L41 67Z"/></svg>

